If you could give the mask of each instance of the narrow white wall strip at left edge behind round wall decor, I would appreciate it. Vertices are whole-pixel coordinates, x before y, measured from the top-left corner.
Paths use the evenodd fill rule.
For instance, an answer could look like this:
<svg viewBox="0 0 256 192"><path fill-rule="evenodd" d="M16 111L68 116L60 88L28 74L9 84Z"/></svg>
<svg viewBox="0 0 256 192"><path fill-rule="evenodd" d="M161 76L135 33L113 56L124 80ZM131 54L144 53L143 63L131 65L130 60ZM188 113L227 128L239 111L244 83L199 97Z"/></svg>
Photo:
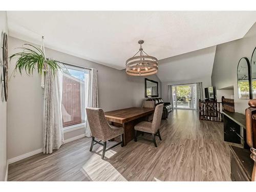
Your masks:
<svg viewBox="0 0 256 192"><path fill-rule="evenodd" d="M0 37L2 32L7 32L6 11L0 11ZM2 38L2 37L1 37ZM1 45L2 47L2 45ZM2 49L1 49L2 52ZM2 57L2 54L0 54ZM2 67L2 66L1 66ZM2 72L2 70L0 70ZM0 90L1 91L1 90ZM2 102L0 95L0 181L5 180L6 163L7 163L7 146L6 146L6 102Z"/></svg>

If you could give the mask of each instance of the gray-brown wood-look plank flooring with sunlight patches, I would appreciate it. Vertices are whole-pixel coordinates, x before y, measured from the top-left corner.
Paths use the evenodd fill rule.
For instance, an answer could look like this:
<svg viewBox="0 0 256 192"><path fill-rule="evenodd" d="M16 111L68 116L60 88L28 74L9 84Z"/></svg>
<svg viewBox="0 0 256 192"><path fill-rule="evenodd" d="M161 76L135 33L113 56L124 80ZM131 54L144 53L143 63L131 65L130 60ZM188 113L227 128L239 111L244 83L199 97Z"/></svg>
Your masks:
<svg viewBox="0 0 256 192"><path fill-rule="evenodd" d="M197 111L174 110L162 120L160 132L157 148L138 139L106 152L104 160L102 146L96 144L89 152L91 138L81 138L51 155L38 154L9 165L8 180L230 181L230 152L222 123L199 121Z"/></svg>

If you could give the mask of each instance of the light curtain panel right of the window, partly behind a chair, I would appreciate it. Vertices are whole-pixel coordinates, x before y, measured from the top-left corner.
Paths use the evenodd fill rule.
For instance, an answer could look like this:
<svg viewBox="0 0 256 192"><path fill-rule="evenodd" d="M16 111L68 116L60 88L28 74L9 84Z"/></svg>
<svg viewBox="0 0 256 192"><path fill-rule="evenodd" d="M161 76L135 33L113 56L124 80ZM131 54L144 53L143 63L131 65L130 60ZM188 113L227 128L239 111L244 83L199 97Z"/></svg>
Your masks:
<svg viewBox="0 0 256 192"><path fill-rule="evenodd" d="M98 80L97 80L97 69L92 69L89 77L89 99L88 104L90 108L98 108ZM86 118L86 137L91 137L91 130Z"/></svg>

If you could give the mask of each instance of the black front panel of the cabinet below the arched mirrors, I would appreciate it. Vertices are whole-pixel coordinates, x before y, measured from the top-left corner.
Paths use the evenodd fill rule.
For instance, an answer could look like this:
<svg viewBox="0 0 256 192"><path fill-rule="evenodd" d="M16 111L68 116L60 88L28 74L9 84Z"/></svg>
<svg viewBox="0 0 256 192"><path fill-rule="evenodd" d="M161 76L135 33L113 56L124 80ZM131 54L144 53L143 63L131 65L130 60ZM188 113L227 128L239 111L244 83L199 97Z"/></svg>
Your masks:
<svg viewBox="0 0 256 192"><path fill-rule="evenodd" d="M240 125L224 115L224 141L231 143L241 143Z"/></svg>

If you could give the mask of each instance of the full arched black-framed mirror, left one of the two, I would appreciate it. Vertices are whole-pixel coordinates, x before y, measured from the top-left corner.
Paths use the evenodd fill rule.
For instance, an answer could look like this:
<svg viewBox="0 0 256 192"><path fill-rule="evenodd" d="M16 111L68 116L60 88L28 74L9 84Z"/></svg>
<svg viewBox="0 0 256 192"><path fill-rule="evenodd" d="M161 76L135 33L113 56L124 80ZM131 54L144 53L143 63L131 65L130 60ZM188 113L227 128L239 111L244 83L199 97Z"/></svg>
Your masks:
<svg viewBox="0 0 256 192"><path fill-rule="evenodd" d="M251 99L251 72L250 62L242 57L238 62L238 98Z"/></svg>

